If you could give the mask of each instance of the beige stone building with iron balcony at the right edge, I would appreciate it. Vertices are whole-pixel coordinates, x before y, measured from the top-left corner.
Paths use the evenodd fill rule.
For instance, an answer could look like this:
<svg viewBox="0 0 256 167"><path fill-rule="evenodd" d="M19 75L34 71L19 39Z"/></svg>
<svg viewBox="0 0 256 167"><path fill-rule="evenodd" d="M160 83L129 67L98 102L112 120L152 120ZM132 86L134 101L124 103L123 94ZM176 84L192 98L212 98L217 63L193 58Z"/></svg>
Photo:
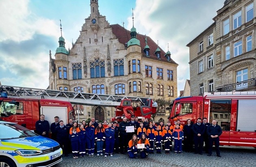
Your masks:
<svg viewBox="0 0 256 167"><path fill-rule="evenodd" d="M256 0L226 0L214 23L187 44L191 96L256 90Z"/></svg>

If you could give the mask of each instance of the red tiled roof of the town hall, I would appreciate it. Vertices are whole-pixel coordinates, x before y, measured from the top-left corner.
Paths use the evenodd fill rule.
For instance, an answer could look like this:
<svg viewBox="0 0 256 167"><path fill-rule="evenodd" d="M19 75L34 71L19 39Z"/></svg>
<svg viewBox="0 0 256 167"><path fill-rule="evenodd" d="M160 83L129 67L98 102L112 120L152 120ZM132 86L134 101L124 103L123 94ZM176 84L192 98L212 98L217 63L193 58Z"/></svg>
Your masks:
<svg viewBox="0 0 256 167"><path fill-rule="evenodd" d="M119 42L126 45L126 43L128 43L128 41L131 39L130 31L126 30L124 27L120 26L119 24L112 24L110 26L112 27L112 31L115 34L115 36L117 36ZM145 35L137 34L137 39L139 39L139 41L140 41L141 53L143 54L143 57L159 60L156 57L156 55L154 54L157 49L157 44L149 36L147 36L147 40L148 40L148 46L150 47L150 51L149 51L150 57L146 56L143 51L144 47L146 46ZM161 49L161 47L159 47L159 49L161 50L160 58L162 61L177 64L172 59L171 59L171 61L168 61L167 58L164 56L166 54L165 51L163 51L163 49Z"/></svg>

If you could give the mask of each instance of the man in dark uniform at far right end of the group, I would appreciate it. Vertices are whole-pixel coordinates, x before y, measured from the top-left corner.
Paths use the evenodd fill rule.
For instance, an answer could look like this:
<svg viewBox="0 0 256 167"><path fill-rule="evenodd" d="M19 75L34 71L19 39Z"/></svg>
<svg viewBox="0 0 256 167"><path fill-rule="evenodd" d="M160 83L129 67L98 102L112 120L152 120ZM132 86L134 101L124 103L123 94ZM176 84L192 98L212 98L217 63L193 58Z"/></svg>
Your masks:
<svg viewBox="0 0 256 167"><path fill-rule="evenodd" d="M209 136L209 150L208 156L212 155L213 150L213 142L215 143L215 149L217 156L221 157L219 151L219 136L222 134L221 127L217 125L217 121L213 120L213 124L208 126L207 128L207 135Z"/></svg>

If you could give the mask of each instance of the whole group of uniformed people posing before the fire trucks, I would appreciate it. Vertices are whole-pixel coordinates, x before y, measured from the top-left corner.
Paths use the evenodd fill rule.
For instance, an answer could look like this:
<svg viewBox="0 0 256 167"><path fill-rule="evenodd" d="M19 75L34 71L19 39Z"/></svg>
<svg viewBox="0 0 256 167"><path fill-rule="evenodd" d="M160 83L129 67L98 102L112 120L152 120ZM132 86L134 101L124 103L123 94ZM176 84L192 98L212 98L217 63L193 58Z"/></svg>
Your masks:
<svg viewBox="0 0 256 167"><path fill-rule="evenodd" d="M171 125L168 121L166 125L160 122L148 122L142 118L141 122L135 116L131 116L128 122L127 118L119 124L117 122L103 124L95 122L95 118L82 124L73 122L69 119L69 123L59 121L59 117L54 118L55 122L49 126L48 121L44 120L44 115L40 116L40 120L36 122L36 129L39 135L48 137L49 129L52 132L52 139L56 140L63 154L68 156L72 150L73 158L85 155L93 156L97 152L97 156L103 155L113 156L113 153L124 154L128 152L130 158L137 158L137 152L140 152L141 158L146 158L148 154L161 154L161 148L165 150L165 154L172 151L172 143L174 142L174 154L182 152L182 140L184 140L184 149L192 152L193 144L195 145L195 154L202 154L205 142L206 152L208 156L212 154L213 142L215 143L217 156L221 157L219 152L219 136L221 135L221 127L217 125L216 120L212 124L207 123L207 119L198 118L197 123L192 124L191 120L187 120L184 127L180 124L180 120L175 125ZM48 123L48 125L47 125ZM134 132L126 132L127 126L133 126ZM215 127L216 126L216 127ZM130 139L130 140L129 140Z"/></svg>

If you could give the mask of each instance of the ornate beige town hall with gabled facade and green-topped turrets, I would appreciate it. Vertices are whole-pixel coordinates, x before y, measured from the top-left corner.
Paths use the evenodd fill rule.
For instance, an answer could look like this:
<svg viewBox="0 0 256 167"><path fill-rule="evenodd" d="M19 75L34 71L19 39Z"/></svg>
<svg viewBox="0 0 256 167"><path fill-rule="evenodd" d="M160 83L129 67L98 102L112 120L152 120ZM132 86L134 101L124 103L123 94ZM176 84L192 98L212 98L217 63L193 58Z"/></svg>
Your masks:
<svg viewBox="0 0 256 167"><path fill-rule="evenodd" d="M61 36L55 59L50 52L49 85L52 90L139 96L153 99L177 97L177 66L171 53L149 37L110 25L100 15L98 0L72 48L65 49ZM115 108L75 105L81 119L110 120ZM167 121L166 116L158 118ZM81 121L80 119L80 121Z"/></svg>

